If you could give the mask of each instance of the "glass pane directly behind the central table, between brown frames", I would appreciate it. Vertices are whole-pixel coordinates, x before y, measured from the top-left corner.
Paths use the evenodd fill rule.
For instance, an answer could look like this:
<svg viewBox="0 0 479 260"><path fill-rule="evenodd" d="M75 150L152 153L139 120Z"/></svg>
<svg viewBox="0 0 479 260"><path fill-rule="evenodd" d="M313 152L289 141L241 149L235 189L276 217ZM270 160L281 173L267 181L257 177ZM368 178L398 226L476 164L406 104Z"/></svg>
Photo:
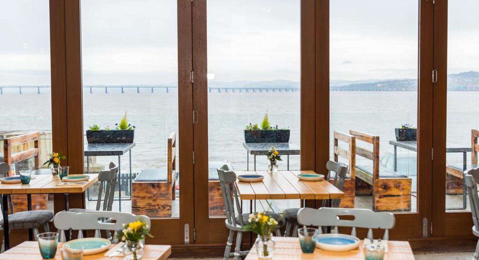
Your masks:
<svg viewBox="0 0 479 260"><path fill-rule="evenodd" d="M289 130L289 141L270 141L299 150L299 15L299 0L208 1L210 217L224 215L218 167L228 161L234 170L268 170L266 156L254 156L245 149L246 126L251 123L261 128L267 113L274 128L269 132L287 135ZM280 171L299 169L299 154L289 156L289 162L283 155L282 160L278 162ZM264 200L257 201L256 209L282 212L298 206L299 200Z"/></svg>

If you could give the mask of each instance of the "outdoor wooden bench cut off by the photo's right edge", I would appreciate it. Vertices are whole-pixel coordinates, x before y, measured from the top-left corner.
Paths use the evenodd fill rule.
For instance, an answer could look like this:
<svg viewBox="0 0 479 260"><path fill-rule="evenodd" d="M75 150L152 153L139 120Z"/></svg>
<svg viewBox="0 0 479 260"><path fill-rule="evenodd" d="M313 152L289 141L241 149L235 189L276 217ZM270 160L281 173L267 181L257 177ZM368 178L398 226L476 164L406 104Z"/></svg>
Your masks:
<svg viewBox="0 0 479 260"><path fill-rule="evenodd" d="M464 175L463 172L467 169L478 167L478 137L479 130L471 130L471 163L467 165L452 164L446 165L446 194L459 195L464 192Z"/></svg>

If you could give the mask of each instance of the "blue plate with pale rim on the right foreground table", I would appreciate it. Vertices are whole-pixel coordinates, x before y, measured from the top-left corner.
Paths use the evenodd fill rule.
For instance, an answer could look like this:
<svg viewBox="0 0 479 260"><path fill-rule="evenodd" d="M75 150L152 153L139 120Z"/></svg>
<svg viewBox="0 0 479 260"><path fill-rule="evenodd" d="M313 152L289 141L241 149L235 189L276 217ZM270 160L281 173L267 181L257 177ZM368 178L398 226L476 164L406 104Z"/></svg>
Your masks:
<svg viewBox="0 0 479 260"><path fill-rule="evenodd" d="M316 247L327 251L350 251L359 246L359 238L345 234L323 234L316 238Z"/></svg>

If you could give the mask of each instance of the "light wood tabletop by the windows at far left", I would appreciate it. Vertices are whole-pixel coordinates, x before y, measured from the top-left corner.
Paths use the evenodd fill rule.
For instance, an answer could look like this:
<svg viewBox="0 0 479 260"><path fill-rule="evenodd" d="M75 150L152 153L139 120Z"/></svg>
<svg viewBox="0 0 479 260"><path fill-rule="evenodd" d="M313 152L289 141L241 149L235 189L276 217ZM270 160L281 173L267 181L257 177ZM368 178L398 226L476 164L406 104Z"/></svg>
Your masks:
<svg viewBox="0 0 479 260"><path fill-rule="evenodd" d="M0 194L46 194L46 193L83 193L98 181L98 174L90 175L86 184L60 185L60 178L52 175L35 175L29 184L0 183Z"/></svg>

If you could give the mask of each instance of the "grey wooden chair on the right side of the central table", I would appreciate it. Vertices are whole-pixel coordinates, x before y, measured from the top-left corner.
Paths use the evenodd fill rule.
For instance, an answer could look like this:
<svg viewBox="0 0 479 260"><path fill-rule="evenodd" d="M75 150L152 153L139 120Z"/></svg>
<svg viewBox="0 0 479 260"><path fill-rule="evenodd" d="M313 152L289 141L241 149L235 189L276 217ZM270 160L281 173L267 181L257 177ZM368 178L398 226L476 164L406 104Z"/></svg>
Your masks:
<svg viewBox="0 0 479 260"><path fill-rule="evenodd" d="M325 178L326 181L329 182L331 178L334 178L333 185L342 191L342 188L344 187L344 180L346 179L348 173L348 166L342 162L328 161L326 163L326 169L328 169L328 176ZM341 199L333 199L331 200L331 207L339 207L340 203ZM326 206L326 200L323 200L322 206ZM283 217L286 221L285 237L289 236L291 226L293 226L292 236L297 236L297 229L299 227L297 220L298 211L299 208L287 208L283 211Z"/></svg>

